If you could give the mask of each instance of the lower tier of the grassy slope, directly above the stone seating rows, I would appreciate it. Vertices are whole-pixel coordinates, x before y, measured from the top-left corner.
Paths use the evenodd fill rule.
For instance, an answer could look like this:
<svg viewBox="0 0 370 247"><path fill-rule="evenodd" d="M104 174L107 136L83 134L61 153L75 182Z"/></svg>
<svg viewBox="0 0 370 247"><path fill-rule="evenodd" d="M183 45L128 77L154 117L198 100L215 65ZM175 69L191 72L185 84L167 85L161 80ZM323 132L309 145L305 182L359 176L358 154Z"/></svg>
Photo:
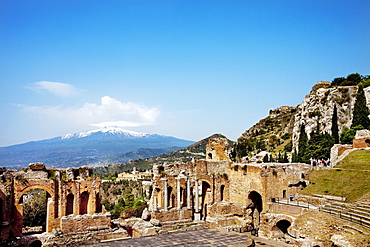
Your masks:
<svg viewBox="0 0 370 247"><path fill-rule="evenodd" d="M355 202L370 193L370 171L316 170L310 172L309 180L312 184L303 189L301 194L343 196L347 202Z"/></svg>

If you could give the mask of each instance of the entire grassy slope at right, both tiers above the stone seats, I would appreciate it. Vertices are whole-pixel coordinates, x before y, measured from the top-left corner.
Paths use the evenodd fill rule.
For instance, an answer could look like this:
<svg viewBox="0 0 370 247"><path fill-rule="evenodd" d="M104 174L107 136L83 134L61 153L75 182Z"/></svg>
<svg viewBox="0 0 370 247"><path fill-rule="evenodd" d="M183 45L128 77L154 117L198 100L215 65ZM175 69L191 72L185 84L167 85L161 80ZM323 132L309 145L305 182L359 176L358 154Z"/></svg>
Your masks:
<svg viewBox="0 0 370 247"><path fill-rule="evenodd" d="M354 202L370 193L370 151L350 153L335 169L312 171L311 185L302 194L326 194L347 197Z"/></svg>

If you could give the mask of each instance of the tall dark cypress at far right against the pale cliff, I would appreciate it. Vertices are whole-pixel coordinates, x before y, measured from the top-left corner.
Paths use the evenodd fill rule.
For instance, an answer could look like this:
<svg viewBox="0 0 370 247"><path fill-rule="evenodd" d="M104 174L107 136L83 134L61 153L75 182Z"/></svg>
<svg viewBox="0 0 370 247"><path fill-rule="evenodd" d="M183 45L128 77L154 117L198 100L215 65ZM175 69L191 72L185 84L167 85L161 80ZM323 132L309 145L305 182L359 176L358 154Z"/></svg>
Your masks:
<svg viewBox="0 0 370 247"><path fill-rule="evenodd" d="M370 127L370 119L368 116L369 108L367 108L366 105L365 92L364 89L361 86L359 86L357 91L355 107L353 110L351 128L356 127L358 125L362 125L362 127L368 129Z"/></svg>

